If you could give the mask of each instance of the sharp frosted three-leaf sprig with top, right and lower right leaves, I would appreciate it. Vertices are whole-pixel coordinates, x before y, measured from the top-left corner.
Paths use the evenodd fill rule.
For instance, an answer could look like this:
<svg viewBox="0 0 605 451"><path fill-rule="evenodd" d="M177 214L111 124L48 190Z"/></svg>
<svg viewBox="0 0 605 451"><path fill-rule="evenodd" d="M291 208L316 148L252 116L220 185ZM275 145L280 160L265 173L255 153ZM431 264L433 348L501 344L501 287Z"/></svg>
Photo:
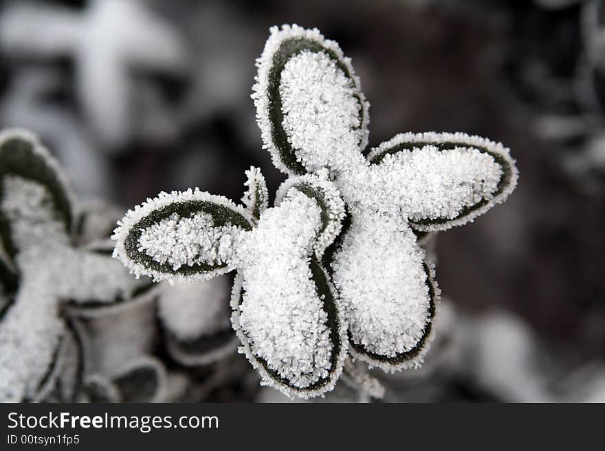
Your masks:
<svg viewBox="0 0 605 451"><path fill-rule="evenodd" d="M404 133L364 157L368 103L351 61L318 30L272 27L252 98L263 146L287 174L329 170L350 224L324 262L355 356L415 367L439 301L416 232L465 224L516 186L509 150L463 133ZM285 182L285 187L289 186Z"/></svg>

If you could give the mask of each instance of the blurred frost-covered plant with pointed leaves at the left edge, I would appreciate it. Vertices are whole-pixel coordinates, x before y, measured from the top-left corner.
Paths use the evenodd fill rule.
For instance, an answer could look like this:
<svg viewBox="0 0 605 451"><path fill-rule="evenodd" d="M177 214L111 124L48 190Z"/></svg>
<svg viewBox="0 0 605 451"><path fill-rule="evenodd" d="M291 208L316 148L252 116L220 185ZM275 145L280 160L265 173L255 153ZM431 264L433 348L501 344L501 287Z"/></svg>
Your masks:
<svg viewBox="0 0 605 451"><path fill-rule="evenodd" d="M0 132L0 400L45 399L66 371L73 385L65 399L74 399L81 340L63 306L122 303L144 286L104 249L75 245L80 220L72 205L39 140L24 130ZM74 346L78 352L67 352Z"/></svg>

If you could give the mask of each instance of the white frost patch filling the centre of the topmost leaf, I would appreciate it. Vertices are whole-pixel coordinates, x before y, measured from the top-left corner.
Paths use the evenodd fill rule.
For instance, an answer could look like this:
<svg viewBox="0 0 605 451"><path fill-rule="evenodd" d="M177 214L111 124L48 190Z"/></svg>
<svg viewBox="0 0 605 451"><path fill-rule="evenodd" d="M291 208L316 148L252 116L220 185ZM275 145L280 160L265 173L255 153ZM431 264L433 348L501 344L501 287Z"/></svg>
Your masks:
<svg viewBox="0 0 605 451"><path fill-rule="evenodd" d="M363 159L356 91L353 80L325 53L303 51L285 65L280 84L283 128L309 172L331 167L332 161Z"/></svg>

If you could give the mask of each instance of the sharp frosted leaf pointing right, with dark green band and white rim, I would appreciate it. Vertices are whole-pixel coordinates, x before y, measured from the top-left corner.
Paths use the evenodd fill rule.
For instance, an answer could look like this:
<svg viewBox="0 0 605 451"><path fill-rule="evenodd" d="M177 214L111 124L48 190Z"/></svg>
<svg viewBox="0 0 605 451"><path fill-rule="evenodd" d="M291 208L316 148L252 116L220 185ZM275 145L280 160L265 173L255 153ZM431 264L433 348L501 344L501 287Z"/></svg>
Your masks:
<svg viewBox="0 0 605 451"><path fill-rule="evenodd" d="M395 177L395 186L383 190L404 191L406 199L399 194L393 203L424 231L474 220L503 202L518 179L507 148L464 133L404 133L373 149L368 160L380 168L376 178Z"/></svg>

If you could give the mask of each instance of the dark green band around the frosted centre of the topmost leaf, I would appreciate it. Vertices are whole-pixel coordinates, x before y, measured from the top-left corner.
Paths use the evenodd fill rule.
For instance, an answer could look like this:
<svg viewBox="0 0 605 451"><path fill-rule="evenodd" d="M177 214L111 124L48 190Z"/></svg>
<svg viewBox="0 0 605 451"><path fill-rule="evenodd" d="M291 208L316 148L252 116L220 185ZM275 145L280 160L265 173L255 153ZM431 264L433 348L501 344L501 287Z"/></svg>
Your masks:
<svg viewBox="0 0 605 451"><path fill-rule="evenodd" d="M282 100L279 92L279 86L281 84L281 74L287 62L301 54L303 51L311 51L313 53L323 52L331 60L336 62L339 69L342 70L344 76L349 78L355 86L355 80L351 77L351 73L344 64L338 58L334 51L327 49L317 41L305 38L292 38L287 39L281 43L275 54L273 55L272 67L269 71L269 80L267 95L269 97L269 119L272 124L272 139L273 143L279 151L281 162L294 174L305 174L307 170L300 161L296 160L296 149L293 149L289 143L286 131L283 128L283 111L282 111ZM359 111L360 111L360 124L364 123L364 108L359 95L355 94L355 98L358 100Z"/></svg>

